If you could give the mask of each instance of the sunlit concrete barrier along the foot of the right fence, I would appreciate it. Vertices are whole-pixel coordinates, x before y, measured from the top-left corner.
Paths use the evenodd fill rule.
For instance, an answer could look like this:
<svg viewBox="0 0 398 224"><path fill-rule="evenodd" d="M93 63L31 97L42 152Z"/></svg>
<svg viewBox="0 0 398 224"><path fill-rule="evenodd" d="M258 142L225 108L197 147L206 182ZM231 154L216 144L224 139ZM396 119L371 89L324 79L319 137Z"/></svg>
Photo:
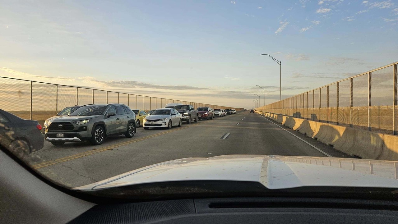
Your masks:
<svg viewBox="0 0 398 224"><path fill-rule="evenodd" d="M364 159L398 160L398 136L310 121L295 117L260 113L286 127L298 130L351 156Z"/></svg>

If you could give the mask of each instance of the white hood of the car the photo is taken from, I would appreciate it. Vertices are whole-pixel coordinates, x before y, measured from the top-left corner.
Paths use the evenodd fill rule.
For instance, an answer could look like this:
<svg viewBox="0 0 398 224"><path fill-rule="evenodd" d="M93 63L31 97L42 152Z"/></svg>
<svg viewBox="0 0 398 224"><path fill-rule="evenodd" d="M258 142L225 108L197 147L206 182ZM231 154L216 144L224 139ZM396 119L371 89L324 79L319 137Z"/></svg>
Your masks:
<svg viewBox="0 0 398 224"><path fill-rule="evenodd" d="M226 155L185 158L136 169L78 187L96 190L192 180L254 181L268 189L303 186L398 187L398 162L347 158Z"/></svg>

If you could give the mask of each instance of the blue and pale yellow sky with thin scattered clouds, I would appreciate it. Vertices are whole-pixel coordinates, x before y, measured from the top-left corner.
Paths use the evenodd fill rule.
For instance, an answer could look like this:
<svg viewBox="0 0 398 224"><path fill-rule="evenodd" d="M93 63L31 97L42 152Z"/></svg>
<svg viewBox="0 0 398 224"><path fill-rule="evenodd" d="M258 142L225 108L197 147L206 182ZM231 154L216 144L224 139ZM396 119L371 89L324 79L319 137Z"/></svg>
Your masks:
<svg viewBox="0 0 398 224"><path fill-rule="evenodd" d="M253 108L398 60L398 1L0 0L0 76Z"/></svg>

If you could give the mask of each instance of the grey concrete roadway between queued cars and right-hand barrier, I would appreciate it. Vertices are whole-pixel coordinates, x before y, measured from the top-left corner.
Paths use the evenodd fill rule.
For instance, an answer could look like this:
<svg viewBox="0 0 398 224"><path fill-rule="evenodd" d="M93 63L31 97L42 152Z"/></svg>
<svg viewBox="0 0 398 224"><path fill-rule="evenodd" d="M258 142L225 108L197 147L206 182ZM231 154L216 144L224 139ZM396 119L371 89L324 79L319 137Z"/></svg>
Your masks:
<svg viewBox="0 0 398 224"><path fill-rule="evenodd" d="M257 113L242 111L171 130L140 127L133 138L108 138L100 146L45 144L31 155L31 165L63 185L78 187L159 162L226 154L349 157Z"/></svg>

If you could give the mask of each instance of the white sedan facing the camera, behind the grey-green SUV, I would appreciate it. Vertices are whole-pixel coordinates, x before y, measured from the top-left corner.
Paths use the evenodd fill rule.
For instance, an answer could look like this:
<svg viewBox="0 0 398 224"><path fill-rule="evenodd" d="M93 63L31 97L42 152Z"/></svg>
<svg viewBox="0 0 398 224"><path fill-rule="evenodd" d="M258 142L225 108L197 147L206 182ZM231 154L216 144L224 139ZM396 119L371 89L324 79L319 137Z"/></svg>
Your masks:
<svg viewBox="0 0 398 224"><path fill-rule="evenodd" d="M172 108L156 109L144 118L142 127L148 130L150 127L167 127L171 129L173 126L181 127L182 116L178 111Z"/></svg>

